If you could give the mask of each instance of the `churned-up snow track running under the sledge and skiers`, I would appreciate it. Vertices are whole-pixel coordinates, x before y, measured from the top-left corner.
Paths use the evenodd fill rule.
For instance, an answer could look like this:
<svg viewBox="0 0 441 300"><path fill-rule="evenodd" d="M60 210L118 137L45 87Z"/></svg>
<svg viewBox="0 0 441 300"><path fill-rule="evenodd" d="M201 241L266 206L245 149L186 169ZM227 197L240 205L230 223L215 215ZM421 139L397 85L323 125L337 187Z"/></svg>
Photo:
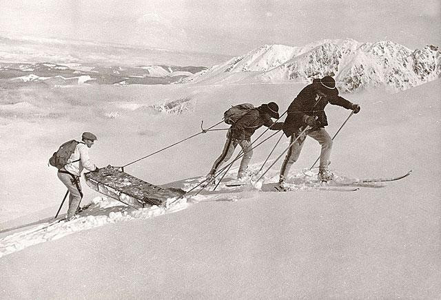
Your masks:
<svg viewBox="0 0 441 300"><path fill-rule="evenodd" d="M270 162L271 160L268 161L268 164ZM91 206L83 211L86 215L82 215L77 219L73 219L70 222L65 222L63 220L60 222L54 222L53 224L45 222L34 226L31 229L19 231L18 233L3 237L3 239L0 239L0 257L23 250L29 246L60 239L66 235L96 228L105 224L127 222L132 219L149 219L151 217L165 215L166 213L176 213L187 208L189 204L209 201L237 202L239 199L254 197L254 194L258 191L278 193L271 186L271 184L276 184L276 182L278 182L278 170L276 169L267 172L263 180L253 182L253 180L258 178L258 175L253 174L257 174L260 167L261 162L249 165L248 167L249 177L245 182L251 182L252 184L246 186L225 186L225 184L238 182L238 180L234 180L238 168L232 168L227 175L225 175L225 178L223 178L223 181L219 184L216 192L214 191L214 186L216 185L209 185L203 189L203 193L189 195L188 197L179 200L176 200L176 198L169 199L165 206L150 206L148 208L134 210L112 198L95 197L92 200ZM262 173L262 171L260 171L260 173ZM315 188L320 187L320 183L316 180L316 176L316 169L313 169L312 171L307 171L307 169L293 170L287 180L286 186L290 191L316 191ZM221 175L219 175L217 179L220 177ZM181 180L181 182L176 182L174 187L181 187L185 191L189 191L198 186L203 180L205 180L205 177L185 179ZM337 180L343 182L345 177L337 175ZM263 182L269 184L269 186L262 188ZM369 184L369 186L374 187L378 185ZM194 189L194 193L197 193L198 191L199 188ZM239 192L241 193L238 194ZM109 210L110 213L105 213L106 210ZM94 211L96 211L96 213L94 213ZM88 213L91 215L87 215ZM80 215L81 214L82 213L80 213Z"/></svg>

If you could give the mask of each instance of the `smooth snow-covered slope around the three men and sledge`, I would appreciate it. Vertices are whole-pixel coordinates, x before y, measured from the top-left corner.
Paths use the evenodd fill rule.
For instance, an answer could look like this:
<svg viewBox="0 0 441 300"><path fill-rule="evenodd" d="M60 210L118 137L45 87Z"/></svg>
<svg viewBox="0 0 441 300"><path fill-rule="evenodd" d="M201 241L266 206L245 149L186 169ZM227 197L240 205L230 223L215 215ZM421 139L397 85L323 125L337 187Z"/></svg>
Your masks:
<svg viewBox="0 0 441 300"><path fill-rule="evenodd" d="M362 110L336 138L331 169L350 178L413 170L398 182L356 192L301 184L302 169L319 153L308 139L291 171L296 191L220 186L167 208L131 211L82 182L83 204L92 202L91 210L42 228L65 193L56 170L47 166L65 140L92 131L99 138L90 149L92 160L123 165L200 132L201 120L205 128L216 124L230 105L274 100L285 111L303 86L2 90L0 297L439 299L439 80L398 94L344 95ZM154 109L189 102L191 109L181 114ZM349 111L329 105L327 115L332 134ZM271 141L255 149L252 169L267 158L276 138ZM189 189L209 171L224 142L225 131L211 131L126 171ZM275 153L287 145L283 138ZM276 180L280 164L267 173L264 187ZM234 171L236 166L229 179ZM35 224L23 227L29 223Z"/></svg>

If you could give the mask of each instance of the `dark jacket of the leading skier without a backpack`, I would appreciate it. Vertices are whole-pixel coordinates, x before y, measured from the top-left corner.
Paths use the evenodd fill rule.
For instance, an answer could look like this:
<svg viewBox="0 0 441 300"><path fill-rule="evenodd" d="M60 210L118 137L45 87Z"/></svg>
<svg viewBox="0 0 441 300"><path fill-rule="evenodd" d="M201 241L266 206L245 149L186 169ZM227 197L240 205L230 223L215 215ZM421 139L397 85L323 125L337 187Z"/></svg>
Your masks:
<svg viewBox="0 0 441 300"><path fill-rule="evenodd" d="M305 126L305 116L316 116L317 121L320 122L318 127L325 127L328 121L325 114L325 106L331 103L332 105L339 105L345 109L352 109L352 103L345 98L336 95L320 97L317 94L316 83L311 83L303 88L297 97L292 101L288 107L287 118L283 126L283 132L287 137L299 131L300 127ZM313 129L313 130L314 130Z"/></svg>

